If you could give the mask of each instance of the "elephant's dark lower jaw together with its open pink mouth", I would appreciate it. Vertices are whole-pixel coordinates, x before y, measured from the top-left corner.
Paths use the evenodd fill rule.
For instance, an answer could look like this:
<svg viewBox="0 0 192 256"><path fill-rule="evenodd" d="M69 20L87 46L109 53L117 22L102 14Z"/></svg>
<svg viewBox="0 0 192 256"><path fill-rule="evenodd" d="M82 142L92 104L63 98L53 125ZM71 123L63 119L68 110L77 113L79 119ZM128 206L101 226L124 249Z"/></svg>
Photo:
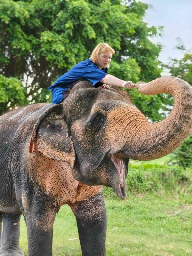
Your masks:
<svg viewBox="0 0 192 256"><path fill-rule="evenodd" d="M102 158L94 167L89 165L90 161L86 164L85 161L78 160L71 170L72 175L76 180L88 186L104 185L111 187L119 198L125 199L128 159L123 160L118 154L105 156L104 162Z"/></svg>

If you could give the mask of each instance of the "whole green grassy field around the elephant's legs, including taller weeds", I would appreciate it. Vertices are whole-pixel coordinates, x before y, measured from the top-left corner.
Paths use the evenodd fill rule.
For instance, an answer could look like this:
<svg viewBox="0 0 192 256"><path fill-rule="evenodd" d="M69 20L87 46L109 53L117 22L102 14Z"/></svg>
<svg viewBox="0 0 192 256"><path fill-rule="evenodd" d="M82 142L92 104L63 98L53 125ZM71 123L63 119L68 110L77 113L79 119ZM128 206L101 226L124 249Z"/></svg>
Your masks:
<svg viewBox="0 0 192 256"><path fill-rule="evenodd" d="M104 189L107 256L192 255L192 173L170 169L167 161L168 157L131 162L125 200L111 188ZM20 247L27 255L23 218ZM52 252L53 256L81 255L76 219L68 205L56 216Z"/></svg>

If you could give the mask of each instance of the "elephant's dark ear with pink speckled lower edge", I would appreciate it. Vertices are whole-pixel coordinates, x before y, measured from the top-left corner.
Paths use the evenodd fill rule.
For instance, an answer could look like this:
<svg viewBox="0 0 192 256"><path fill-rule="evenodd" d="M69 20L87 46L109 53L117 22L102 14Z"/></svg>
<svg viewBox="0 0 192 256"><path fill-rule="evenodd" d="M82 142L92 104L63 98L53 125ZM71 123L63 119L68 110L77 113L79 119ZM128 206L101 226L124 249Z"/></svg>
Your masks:
<svg viewBox="0 0 192 256"><path fill-rule="evenodd" d="M67 162L73 168L75 149L61 114L62 104L54 104L39 116L33 127L29 152L41 152L44 156Z"/></svg>

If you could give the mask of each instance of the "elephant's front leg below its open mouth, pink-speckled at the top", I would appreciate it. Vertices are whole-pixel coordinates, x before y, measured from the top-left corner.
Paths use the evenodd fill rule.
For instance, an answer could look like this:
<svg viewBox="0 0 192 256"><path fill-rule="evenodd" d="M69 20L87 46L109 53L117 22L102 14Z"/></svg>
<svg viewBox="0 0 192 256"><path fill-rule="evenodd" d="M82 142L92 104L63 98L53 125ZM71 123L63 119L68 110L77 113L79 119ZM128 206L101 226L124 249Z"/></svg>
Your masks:
<svg viewBox="0 0 192 256"><path fill-rule="evenodd" d="M76 216L83 256L105 256L106 209L102 193L70 205Z"/></svg>

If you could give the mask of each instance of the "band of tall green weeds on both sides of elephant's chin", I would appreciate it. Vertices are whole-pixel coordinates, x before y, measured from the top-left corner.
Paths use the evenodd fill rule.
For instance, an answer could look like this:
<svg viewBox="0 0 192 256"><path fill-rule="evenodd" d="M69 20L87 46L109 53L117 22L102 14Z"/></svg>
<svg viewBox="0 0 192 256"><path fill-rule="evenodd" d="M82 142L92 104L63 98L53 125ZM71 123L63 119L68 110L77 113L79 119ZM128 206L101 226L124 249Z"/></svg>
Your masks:
<svg viewBox="0 0 192 256"><path fill-rule="evenodd" d="M142 165L130 164L126 180L127 194L169 194L181 196L184 203L192 203L190 193L192 175L190 169L186 172L180 166L169 166L146 162ZM104 195L118 199L111 188L104 188Z"/></svg>

